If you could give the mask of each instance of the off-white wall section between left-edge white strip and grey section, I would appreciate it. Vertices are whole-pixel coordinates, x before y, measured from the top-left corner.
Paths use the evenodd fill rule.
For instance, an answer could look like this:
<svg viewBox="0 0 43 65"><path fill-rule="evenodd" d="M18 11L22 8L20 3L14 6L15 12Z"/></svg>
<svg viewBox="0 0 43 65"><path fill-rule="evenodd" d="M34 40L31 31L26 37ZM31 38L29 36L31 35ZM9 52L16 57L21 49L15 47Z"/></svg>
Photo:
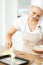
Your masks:
<svg viewBox="0 0 43 65"><path fill-rule="evenodd" d="M6 0L6 32L17 17L17 0Z"/></svg>

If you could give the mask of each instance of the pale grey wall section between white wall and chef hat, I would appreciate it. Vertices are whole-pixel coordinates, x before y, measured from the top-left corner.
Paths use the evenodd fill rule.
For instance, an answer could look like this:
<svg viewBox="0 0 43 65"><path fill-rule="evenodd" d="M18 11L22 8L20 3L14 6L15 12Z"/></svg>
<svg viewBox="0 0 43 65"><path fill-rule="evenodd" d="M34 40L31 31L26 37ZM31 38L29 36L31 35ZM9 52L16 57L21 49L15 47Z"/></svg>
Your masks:
<svg viewBox="0 0 43 65"><path fill-rule="evenodd" d="M18 0L18 16L29 14L29 6L31 0Z"/></svg>

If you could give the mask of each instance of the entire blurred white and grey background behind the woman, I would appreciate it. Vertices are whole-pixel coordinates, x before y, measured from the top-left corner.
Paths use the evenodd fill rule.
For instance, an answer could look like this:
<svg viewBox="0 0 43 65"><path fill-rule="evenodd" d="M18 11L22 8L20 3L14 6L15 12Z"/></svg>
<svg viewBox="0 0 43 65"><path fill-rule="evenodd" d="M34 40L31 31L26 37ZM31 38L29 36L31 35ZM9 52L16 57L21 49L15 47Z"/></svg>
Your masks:
<svg viewBox="0 0 43 65"><path fill-rule="evenodd" d="M29 6L31 0L0 0L0 45L5 43L5 35L11 28L11 26L16 22L16 18L24 14L29 14ZM16 35L17 34L17 35ZM22 47L22 38L21 33L18 31L13 36L16 41L15 47L18 48L19 45ZM21 42L21 43L20 43ZM20 47L20 48L21 48Z"/></svg>

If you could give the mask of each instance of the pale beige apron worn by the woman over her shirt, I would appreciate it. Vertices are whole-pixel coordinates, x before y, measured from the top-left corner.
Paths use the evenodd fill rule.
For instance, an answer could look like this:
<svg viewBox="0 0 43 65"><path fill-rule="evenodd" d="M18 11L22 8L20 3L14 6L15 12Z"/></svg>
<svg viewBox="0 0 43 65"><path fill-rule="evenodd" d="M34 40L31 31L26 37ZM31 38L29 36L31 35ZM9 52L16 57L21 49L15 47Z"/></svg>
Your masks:
<svg viewBox="0 0 43 65"><path fill-rule="evenodd" d="M25 30L26 30L26 27L22 32L23 41L24 41L23 51L32 53L33 45L40 44L43 39L42 30L40 26L38 27L39 33L29 33L29 32L26 32Z"/></svg>

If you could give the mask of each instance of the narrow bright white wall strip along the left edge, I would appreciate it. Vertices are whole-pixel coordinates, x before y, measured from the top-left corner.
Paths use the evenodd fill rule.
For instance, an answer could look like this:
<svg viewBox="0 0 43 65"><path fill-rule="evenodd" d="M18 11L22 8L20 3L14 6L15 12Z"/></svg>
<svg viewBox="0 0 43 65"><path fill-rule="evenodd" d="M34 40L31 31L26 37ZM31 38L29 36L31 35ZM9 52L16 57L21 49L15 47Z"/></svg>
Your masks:
<svg viewBox="0 0 43 65"><path fill-rule="evenodd" d="M0 45L4 43L5 37L5 0L0 0Z"/></svg>

